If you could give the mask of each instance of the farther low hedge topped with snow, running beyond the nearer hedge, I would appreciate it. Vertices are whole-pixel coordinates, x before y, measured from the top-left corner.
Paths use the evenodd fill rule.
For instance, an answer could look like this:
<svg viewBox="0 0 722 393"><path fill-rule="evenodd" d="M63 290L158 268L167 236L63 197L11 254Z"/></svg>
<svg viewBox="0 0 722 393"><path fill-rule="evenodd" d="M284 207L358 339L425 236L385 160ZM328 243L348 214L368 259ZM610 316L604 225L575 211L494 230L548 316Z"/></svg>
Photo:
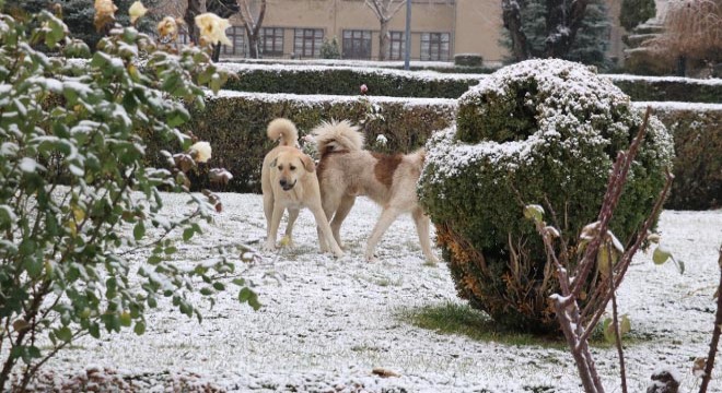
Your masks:
<svg viewBox="0 0 722 393"><path fill-rule="evenodd" d="M225 88L238 92L356 95L365 84L369 95L388 97L458 98L484 74L441 74L391 69L324 66L261 66L223 63L237 75ZM722 81L687 78L607 75L640 102L722 103Z"/></svg>

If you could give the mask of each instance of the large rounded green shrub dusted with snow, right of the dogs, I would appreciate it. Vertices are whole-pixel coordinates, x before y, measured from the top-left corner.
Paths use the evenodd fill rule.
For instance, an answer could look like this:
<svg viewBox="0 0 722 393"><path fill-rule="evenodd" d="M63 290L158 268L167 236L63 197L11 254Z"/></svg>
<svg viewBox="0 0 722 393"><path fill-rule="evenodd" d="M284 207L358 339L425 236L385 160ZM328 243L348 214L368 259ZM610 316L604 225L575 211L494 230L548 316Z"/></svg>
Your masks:
<svg viewBox="0 0 722 393"><path fill-rule="evenodd" d="M544 205L568 240L558 253L574 255L617 152L641 122L610 81L563 60L503 68L462 96L456 124L427 143L419 182L459 296L508 329L557 331L547 299L558 282L523 206ZM651 117L610 225L622 242L651 210L673 154L672 138Z"/></svg>

